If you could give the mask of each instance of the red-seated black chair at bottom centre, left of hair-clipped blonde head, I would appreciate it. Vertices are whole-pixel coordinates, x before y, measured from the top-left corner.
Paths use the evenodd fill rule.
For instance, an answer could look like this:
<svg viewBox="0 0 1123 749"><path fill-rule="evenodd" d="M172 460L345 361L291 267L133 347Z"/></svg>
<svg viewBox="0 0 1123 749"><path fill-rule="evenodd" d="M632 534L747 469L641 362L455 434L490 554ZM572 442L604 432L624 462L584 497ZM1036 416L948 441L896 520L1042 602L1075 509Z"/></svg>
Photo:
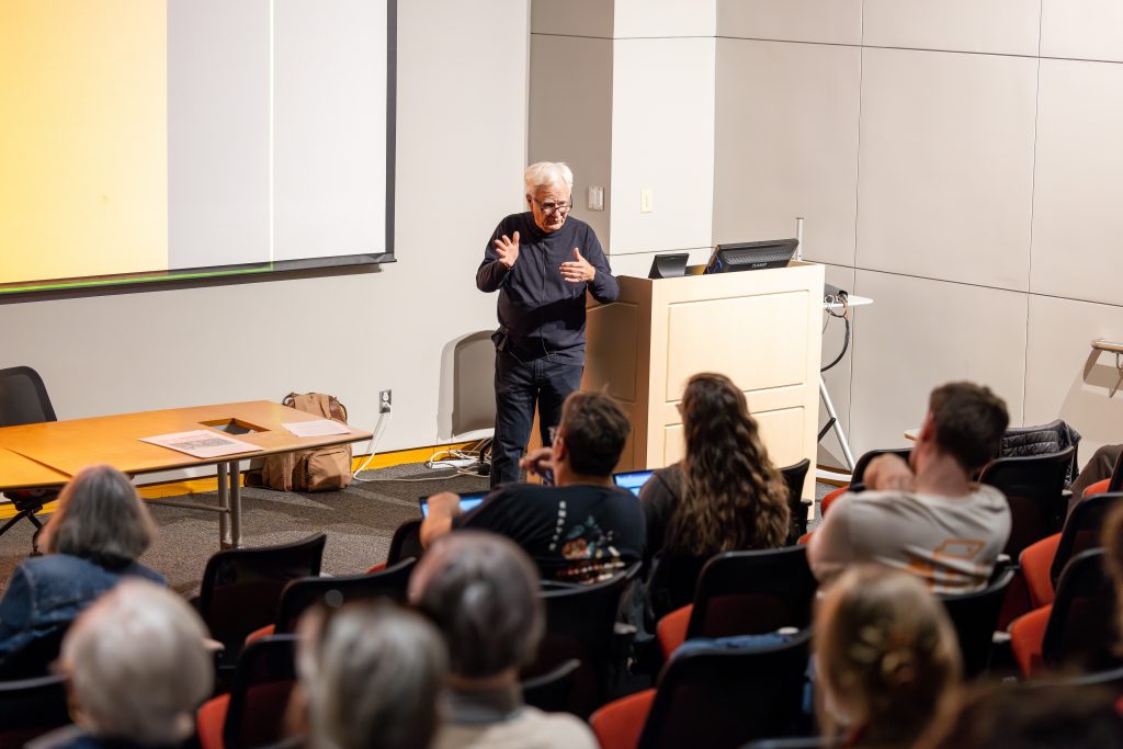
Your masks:
<svg viewBox="0 0 1123 749"><path fill-rule="evenodd" d="M734 749L800 724L811 630L758 648L684 648L658 686L617 700L590 719L601 749Z"/></svg>

